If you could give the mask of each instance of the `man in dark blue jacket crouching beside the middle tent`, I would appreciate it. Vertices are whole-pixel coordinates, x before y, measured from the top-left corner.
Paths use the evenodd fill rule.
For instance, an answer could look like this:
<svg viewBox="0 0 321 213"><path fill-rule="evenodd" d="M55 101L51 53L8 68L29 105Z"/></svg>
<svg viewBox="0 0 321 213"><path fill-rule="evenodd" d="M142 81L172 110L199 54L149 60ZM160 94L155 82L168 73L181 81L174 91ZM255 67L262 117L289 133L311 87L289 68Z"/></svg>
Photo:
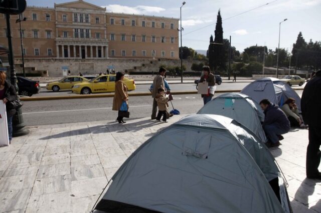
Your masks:
<svg viewBox="0 0 321 213"><path fill-rule="evenodd" d="M271 103L268 99L260 101L260 106L264 110L265 118L263 121L263 129L271 147L279 146L281 134L285 134L290 130L290 121L287 119L285 113L278 105Z"/></svg>

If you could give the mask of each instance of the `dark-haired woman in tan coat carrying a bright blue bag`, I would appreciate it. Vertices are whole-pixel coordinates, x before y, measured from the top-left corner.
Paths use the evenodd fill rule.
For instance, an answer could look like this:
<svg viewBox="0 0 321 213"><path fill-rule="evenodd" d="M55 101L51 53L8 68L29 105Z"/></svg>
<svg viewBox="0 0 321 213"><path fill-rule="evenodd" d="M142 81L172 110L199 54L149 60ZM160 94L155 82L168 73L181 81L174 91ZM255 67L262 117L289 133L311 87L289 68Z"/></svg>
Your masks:
<svg viewBox="0 0 321 213"><path fill-rule="evenodd" d="M118 111L118 117L117 121L118 123L125 123L123 121L122 116L120 116L120 107L123 101L126 101L127 103L127 109L128 109L128 88L126 84L122 81L124 79L124 73L123 72L117 72L116 73L116 79L115 79L115 94L114 94L114 100L112 104L112 110Z"/></svg>

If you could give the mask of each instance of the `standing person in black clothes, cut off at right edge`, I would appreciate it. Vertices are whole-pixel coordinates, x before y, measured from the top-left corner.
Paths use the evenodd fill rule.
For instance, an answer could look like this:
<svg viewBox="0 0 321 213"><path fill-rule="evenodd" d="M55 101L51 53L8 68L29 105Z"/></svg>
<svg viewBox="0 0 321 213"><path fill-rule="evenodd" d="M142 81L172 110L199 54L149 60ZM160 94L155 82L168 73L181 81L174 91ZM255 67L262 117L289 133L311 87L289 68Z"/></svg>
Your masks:
<svg viewBox="0 0 321 213"><path fill-rule="evenodd" d="M306 150L306 177L321 179L317 169L321 159L321 70L306 83L301 99L304 123L309 126L309 144Z"/></svg>

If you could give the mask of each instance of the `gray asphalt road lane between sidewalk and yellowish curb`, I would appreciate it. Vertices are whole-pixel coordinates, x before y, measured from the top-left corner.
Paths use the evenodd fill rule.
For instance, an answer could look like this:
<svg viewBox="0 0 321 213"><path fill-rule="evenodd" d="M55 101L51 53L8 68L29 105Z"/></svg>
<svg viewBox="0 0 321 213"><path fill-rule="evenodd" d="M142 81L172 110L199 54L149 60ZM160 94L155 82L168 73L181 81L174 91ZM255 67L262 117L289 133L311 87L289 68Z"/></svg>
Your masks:
<svg viewBox="0 0 321 213"><path fill-rule="evenodd" d="M301 96L302 90L296 92ZM218 93L220 94L222 93ZM112 101L112 97L24 101L22 110L27 126L113 120L116 119L117 112L111 109ZM203 106L203 99L199 94L174 95L173 104L182 114L190 114L196 113ZM151 105L150 96L130 97L130 119L149 117ZM172 110L171 105L170 110Z"/></svg>

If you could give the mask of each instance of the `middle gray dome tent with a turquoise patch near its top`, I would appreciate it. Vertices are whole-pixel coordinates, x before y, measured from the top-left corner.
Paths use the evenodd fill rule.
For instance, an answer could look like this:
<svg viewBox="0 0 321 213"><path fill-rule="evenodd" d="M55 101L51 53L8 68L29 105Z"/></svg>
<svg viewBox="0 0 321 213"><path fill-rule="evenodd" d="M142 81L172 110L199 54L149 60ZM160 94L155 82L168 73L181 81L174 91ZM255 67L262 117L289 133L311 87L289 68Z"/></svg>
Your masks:
<svg viewBox="0 0 321 213"><path fill-rule="evenodd" d="M255 133L263 142L266 136L261 122L264 113L260 105L246 94L239 92L225 93L205 104L198 114L220 114L242 123Z"/></svg>

